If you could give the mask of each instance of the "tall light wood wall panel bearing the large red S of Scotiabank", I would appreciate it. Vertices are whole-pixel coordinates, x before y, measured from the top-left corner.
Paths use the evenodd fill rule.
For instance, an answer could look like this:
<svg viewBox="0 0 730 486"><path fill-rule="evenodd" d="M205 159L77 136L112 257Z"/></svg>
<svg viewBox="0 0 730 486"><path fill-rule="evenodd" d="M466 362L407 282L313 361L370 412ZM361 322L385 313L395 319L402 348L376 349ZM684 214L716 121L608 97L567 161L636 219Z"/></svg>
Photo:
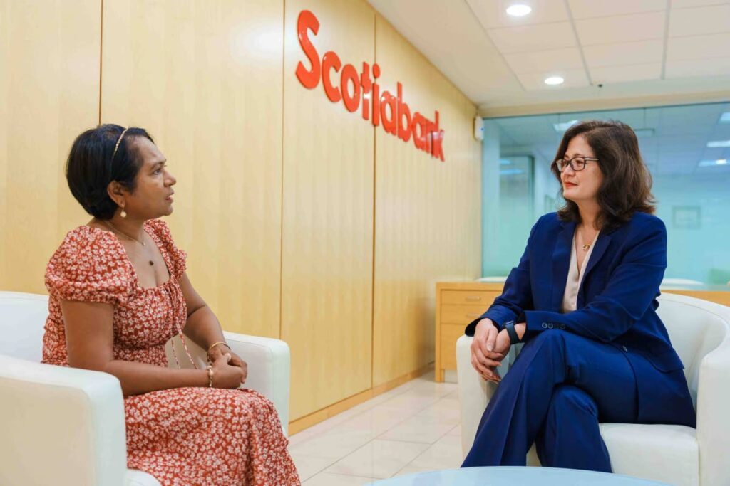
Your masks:
<svg viewBox="0 0 730 486"><path fill-rule="evenodd" d="M297 63L310 66L296 22L309 9L319 56L334 50L359 68L374 58L375 15L361 0L285 8L282 338L296 419L372 385L374 158L372 125L296 78Z"/></svg>

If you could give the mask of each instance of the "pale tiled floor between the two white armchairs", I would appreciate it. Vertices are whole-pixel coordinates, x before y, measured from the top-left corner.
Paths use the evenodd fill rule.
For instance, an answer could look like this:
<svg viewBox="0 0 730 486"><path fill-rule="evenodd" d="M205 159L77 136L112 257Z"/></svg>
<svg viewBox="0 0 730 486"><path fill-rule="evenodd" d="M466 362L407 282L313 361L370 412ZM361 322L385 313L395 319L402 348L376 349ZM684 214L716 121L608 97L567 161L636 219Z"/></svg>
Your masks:
<svg viewBox="0 0 730 486"><path fill-rule="evenodd" d="M412 380L291 436L305 486L377 479L461 465L456 384Z"/></svg>

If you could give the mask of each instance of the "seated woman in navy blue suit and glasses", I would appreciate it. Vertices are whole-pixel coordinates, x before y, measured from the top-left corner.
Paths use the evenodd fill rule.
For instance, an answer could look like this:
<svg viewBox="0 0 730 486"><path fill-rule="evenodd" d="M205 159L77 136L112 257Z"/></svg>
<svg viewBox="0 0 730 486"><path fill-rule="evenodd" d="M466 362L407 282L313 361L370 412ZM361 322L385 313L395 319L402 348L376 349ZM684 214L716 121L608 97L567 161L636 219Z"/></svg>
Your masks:
<svg viewBox="0 0 730 486"><path fill-rule="evenodd" d="M610 472L599 422L696 423L656 314L666 230L634 130L574 125L552 169L566 205L538 220L502 296L466 327L472 365L499 386L462 467L524 466L535 443L543 466Z"/></svg>

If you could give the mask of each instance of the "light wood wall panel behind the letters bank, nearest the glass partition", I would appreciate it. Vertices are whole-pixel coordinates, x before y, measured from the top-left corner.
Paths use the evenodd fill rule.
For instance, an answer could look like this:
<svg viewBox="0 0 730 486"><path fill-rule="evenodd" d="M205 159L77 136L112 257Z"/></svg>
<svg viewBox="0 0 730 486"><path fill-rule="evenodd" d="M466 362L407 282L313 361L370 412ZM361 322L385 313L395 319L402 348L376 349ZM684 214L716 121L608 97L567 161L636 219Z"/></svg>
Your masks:
<svg viewBox="0 0 730 486"><path fill-rule="evenodd" d="M381 93L445 130L445 162L376 130L373 382L434 361L434 283L480 273L480 154L475 106L377 17Z"/></svg>

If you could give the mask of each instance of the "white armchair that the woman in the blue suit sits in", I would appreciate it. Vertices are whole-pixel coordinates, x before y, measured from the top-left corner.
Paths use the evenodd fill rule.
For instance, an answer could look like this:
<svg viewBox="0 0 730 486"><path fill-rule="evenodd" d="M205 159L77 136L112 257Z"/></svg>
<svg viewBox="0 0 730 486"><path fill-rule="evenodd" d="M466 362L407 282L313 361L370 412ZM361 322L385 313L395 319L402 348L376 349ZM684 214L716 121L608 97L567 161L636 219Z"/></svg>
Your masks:
<svg viewBox="0 0 730 486"><path fill-rule="evenodd" d="M726 457L730 452L730 307L663 294L658 314L685 364L696 404L697 428L602 423L601 435L613 471L676 486L730 485L730 460ZM496 385L485 383L472 368L471 342L472 337L466 336L456 342L464 456L496 390ZM502 376L518 352L510 350L499 369ZM539 466L534 446L528 454L528 466Z"/></svg>

